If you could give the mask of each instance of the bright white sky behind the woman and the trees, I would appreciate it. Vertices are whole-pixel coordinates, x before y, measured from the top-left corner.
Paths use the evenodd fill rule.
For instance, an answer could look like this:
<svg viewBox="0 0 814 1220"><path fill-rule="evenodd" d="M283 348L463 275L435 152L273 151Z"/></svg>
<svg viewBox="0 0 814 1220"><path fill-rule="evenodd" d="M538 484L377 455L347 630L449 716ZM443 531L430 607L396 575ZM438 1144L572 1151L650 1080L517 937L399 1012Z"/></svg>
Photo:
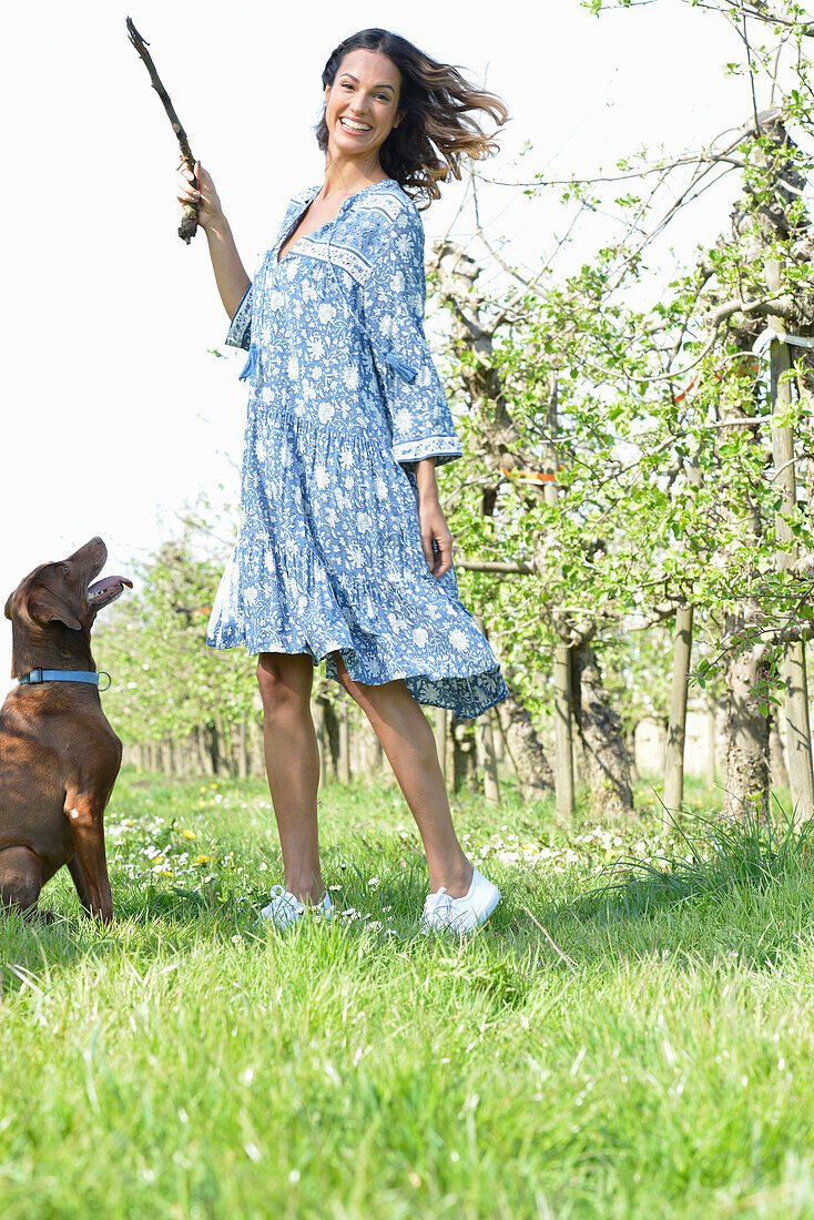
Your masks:
<svg viewBox="0 0 814 1220"><path fill-rule="evenodd" d="M211 354L228 318L204 234L189 246L176 234L177 144L126 16L150 43L249 274L289 196L323 178L320 78L358 29L392 29L505 100L511 121L499 156L477 166L478 196L484 229L519 266L537 266L561 223L552 193L530 199L519 184L613 172L643 146L697 146L749 113L746 83L724 72L737 40L680 0L599 20L561 0L533 27L526 0L132 5L4 11L2 603L38 564L98 533L106 571L128 575L201 492L237 498L243 354ZM736 190L710 196L677 239L714 238ZM427 244L449 231L480 257L466 199L465 182L442 188L422 212ZM2 691L11 632L0 623Z"/></svg>

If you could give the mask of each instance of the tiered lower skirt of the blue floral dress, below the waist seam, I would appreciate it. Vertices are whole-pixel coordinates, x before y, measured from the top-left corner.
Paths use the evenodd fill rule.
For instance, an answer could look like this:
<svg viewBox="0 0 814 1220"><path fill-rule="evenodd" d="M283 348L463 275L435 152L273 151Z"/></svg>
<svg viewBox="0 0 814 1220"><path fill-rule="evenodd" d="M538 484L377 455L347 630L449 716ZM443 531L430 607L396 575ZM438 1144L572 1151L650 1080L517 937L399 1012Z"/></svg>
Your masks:
<svg viewBox="0 0 814 1220"><path fill-rule="evenodd" d="M315 423L253 396L242 501L214 648L326 658L337 681L338 651L354 681L403 678L419 703L464 717L505 698L454 571L436 580L427 567L415 492L386 432Z"/></svg>

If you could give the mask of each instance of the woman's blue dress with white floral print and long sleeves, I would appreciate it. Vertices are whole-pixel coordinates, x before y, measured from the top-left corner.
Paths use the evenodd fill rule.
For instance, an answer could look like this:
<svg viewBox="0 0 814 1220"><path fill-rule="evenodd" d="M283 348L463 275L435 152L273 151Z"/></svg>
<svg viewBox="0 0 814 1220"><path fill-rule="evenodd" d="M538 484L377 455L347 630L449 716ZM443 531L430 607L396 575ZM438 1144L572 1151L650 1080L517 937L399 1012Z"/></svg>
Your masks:
<svg viewBox="0 0 814 1220"><path fill-rule="evenodd" d="M423 558L412 464L461 455L423 332L423 226L388 178L277 261L320 190L295 195L232 318L250 384L240 526L212 648L333 653L372 686L472 717L509 693L455 572Z"/></svg>

